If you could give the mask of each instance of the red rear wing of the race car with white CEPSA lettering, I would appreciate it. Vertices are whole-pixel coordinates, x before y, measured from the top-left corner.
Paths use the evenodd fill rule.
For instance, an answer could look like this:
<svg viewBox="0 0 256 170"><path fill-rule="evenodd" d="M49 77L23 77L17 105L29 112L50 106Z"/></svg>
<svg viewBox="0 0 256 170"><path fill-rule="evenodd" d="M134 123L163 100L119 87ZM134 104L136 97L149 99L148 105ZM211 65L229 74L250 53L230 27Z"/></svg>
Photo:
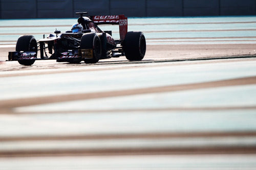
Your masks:
<svg viewBox="0 0 256 170"><path fill-rule="evenodd" d="M97 15L90 17L96 25L119 25L120 39L124 40L127 30L127 17L124 15Z"/></svg>

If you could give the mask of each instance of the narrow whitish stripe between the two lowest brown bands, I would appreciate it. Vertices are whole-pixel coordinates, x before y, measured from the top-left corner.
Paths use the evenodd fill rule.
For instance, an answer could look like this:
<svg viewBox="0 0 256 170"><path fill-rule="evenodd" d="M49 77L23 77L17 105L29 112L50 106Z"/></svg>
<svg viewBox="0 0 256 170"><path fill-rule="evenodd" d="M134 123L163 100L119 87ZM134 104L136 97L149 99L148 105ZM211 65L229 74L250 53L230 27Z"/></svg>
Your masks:
<svg viewBox="0 0 256 170"><path fill-rule="evenodd" d="M47 144L46 144L47 143ZM238 147L256 145L256 137L193 137L166 139L99 139L44 140L0 142L0 151L65 150L65 149L148 149L183 147Z"/></svg>

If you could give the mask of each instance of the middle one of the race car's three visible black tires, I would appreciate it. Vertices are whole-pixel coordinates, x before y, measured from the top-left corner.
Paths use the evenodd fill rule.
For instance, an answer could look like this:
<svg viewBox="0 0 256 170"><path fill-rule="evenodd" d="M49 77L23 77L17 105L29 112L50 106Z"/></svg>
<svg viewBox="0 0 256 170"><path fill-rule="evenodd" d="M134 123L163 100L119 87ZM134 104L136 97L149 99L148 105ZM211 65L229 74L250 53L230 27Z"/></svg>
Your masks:
<svg viewBox="0 0 256 170"><path fill-rule="evenodd" d="M87 64L97 63L100 59L102 47L101 41L97 34L95 33L86 33L81 38L81 49L93 49L93 58L92 59L83 59Z"/></svg>

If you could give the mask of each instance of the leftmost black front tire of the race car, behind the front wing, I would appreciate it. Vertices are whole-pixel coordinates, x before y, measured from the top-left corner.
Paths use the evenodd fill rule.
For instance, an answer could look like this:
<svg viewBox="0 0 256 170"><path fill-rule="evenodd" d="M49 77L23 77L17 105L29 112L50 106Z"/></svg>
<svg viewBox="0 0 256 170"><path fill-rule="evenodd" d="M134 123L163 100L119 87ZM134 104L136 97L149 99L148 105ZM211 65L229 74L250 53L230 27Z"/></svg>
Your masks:
<svg viewBox="0 0 256 170"><path fill-rule="evenodd" d="M22 35L16 43L16 51L20 52L35 52L37 54L37 42L32 35ZM18 60L21 65L32 65L35 60Z"/></svg>

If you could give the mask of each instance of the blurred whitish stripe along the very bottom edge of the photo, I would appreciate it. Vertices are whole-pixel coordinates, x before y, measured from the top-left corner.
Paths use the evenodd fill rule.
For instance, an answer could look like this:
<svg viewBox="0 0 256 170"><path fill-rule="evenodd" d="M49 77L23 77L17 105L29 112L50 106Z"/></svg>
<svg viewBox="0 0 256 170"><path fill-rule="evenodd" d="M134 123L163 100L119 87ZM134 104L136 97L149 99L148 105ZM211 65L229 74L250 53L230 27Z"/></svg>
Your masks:
<svg viewBox="0 0 256 170"><path fill-rule="evenodd" d="M118 155L0 158L2 169L255 170L255 154Z"/></svg>

